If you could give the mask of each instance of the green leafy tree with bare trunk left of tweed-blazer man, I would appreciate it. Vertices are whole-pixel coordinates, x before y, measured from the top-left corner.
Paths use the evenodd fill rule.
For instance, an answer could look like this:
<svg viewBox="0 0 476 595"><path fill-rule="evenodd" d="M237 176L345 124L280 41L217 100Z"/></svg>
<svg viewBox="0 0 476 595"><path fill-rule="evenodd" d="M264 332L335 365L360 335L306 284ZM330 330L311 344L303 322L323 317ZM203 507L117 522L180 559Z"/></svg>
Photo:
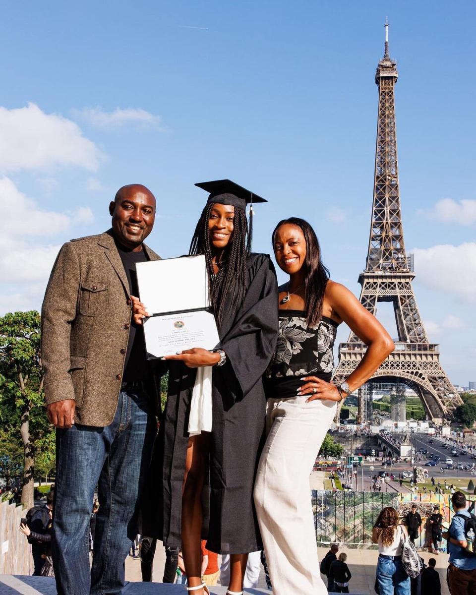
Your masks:
<svg viewBox="0 0 476 595"><path fill-rule="evenodd" d="M0 318L0 418L23 444L21 503L33 506L35 452L52 433L43 403L40 315L14 312Z"/></svg>

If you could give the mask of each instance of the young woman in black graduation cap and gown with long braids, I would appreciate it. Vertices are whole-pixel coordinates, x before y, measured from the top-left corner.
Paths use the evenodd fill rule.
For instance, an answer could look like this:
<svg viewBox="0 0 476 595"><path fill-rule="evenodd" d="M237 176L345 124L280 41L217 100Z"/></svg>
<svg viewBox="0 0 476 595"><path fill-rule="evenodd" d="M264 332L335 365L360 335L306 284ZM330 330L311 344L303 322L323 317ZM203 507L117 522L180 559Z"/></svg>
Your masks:
<svg viewBox="0 0 476 595"><path fill-rule="evenodd" d="M190 349L167 357L167 405L152 463L159 480L156 537L167 546L181 546L187 588L196 595L208 593L201 579L200 540L202 493L208 493L202 488L209 483L206 547L230 554L228 593L233 595L242 592L248 553L262 547L253 483L265 422L262 375L277 339L277 281L269 256L250 252L245 209L252 195L229 180L196 185L210 195L190 254L206 257L221 345L219 351ZM253 196L252 202L265 201ZM147 314L137 302L134 312L136 320ZM200 369L210 367L211 427L205 419L208 431L199 423L191 436L190 422L197 417L192 393Z"/></svg>

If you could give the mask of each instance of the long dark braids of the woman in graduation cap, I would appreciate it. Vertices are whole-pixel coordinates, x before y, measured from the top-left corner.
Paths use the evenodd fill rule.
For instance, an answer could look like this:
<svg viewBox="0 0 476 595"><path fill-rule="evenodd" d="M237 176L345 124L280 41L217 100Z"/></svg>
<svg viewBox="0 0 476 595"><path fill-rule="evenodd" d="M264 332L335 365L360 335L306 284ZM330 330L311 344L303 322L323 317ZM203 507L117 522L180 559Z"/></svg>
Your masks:
<svg viewBox="0 0 476 595"><path fill-rule="evenodd" d="M252 230L246 221L243 209L234 208L233 234L224 251L226 259L223 267L215 275L212 263L212 249L208 232L208 221L214 206L208 203L202 211L190 242L189 255L204 254L208 268L208 281L211 302L215 311L218 326L223 321L226 298L230 296L228 308L236 308L245 294L246 258L251 252Z"/></svg>

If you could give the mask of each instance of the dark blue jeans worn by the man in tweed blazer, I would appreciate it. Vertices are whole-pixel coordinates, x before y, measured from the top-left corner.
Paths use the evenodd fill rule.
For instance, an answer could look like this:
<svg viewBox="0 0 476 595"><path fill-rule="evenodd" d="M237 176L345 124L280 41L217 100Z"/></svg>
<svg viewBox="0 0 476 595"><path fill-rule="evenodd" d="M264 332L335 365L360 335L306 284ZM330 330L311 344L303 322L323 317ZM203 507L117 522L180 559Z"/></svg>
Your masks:
<svg viewBox="0 0 476 595"><path fill-rule="evenodd" d="M143 390L121 390L112 423L57 430L52 549L58 595L114 595L137 534L139 499L156 434L154 404ZM99 511L89 567L95 488Z"/></svg>

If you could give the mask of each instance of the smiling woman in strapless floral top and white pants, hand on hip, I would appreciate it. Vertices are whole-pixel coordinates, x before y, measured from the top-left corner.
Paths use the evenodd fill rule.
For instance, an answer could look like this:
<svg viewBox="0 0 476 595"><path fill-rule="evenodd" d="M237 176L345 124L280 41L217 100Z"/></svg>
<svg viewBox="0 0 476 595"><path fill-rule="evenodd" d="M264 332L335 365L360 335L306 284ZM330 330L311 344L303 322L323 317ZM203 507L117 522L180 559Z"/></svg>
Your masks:
<svg viewBox="0 0 476 595"><path fill-rule="evenodd" d="M393 350L380 322L329 279L312 227L292 217L273 232L280 287L277 347L265 378L267 441L255 504L275 595L327 593L321 580L309 474L337 403L367 381ZM340 386L331 382L336 330L346 322L368 349Z"/></svg>

